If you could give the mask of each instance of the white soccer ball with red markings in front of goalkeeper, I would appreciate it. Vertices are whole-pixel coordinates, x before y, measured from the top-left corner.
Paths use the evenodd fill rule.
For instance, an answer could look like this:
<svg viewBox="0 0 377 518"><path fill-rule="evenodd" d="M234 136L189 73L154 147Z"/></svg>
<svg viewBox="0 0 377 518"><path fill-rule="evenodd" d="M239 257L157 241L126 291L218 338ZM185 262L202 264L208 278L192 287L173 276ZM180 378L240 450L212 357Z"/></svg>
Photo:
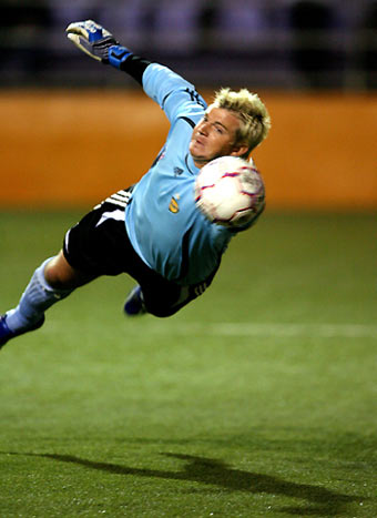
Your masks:
<svg viewBox="0 0 377 518"><path fill-rule="evenodd" d="M264 209L264 184L252 162L222 156L205 164L195 181L195 202L213 223L251 223Z"/></svg>

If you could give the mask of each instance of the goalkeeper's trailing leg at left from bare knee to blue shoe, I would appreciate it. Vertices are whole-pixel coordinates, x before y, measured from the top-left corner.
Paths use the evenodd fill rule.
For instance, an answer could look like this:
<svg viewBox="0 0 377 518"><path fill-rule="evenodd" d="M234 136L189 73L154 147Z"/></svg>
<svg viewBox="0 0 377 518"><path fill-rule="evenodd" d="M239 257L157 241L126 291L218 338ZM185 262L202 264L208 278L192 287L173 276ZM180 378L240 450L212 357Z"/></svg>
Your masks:
<svg viewBox="0 0 377 518"><path fill-rule="evenodd" d="M0 317L0 347L10 338L41 327L49 307L93 278L74 270L62 252L45 260L34 271L18 306Z"/></svg>

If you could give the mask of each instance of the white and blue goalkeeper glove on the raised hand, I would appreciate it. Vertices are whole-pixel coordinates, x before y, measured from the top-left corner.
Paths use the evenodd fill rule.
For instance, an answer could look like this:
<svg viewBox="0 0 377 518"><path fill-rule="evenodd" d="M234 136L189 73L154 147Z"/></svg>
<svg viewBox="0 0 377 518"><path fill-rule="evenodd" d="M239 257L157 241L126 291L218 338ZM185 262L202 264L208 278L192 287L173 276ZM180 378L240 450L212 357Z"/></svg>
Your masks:
<svg viewBox="0 0 377 518"><path fill-rule="evenodd" d="M132 52L93 20L78 21L65 29L67 38L91 58L120 69Z"/></svg>

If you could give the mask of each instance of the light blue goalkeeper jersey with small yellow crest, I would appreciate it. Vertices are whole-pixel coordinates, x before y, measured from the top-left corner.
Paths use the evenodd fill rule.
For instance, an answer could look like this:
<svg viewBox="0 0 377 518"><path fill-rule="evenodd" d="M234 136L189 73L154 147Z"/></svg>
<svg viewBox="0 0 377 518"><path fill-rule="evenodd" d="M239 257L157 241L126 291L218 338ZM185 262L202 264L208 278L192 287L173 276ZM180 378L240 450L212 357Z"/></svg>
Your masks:
<svg viewBox="0 0 377 518"><path fill-rule="evenodd" d="M206 104L190 82L156 63L146 67L143 89L164 110L171 129L154 164L132 193L126 231L151 268L179 284L196 284L218 267L234 235L206 220L195 205L198 169L188 144Z"/></svg>

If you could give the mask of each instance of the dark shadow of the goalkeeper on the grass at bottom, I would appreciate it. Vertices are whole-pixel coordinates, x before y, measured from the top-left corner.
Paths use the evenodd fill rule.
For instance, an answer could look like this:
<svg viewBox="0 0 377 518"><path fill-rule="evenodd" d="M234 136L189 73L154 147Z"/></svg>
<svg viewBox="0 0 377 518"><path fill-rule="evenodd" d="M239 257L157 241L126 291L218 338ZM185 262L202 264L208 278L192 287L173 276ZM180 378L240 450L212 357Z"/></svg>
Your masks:
<svg viewBox="0 0 377 518"><path fill-rule="evenodd" d="M217 486L228 491L245 491L251 494L265 492L268 495L281 495L306 500L306 505L304 504L303 506L278 509L282 512L297 516L342 516L342 514L346 511L347 505L361 499L361 497L358 496L334 492L324 487L289 483L271 475L233 469L221 460L191 455L162 454L166 457L186 461L183 470L181 471L142 469L111 463L95 463L93 460L82 459L72 455L16 453L8 453L8 455L27 455L31 457L48 458L114 475L194 481ZM275 511L277 509L275 509Z"/></svg>

